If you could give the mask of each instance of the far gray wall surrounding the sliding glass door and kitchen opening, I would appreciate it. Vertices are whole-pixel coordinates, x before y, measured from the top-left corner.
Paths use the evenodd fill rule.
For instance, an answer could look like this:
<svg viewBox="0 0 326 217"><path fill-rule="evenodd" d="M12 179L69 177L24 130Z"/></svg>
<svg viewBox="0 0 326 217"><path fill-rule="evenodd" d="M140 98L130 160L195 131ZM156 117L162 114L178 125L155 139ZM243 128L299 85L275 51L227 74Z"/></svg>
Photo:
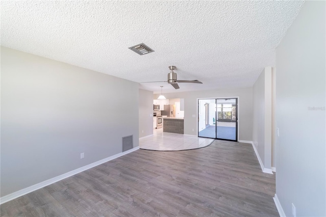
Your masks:
<svg viewBox="0 0 326 217"><path fill-rule="evenodd" d="M195 84L196 85L196 84ZM180 87L181 89L182 87ZM154 94L157 99L159 94ZM165 93L167 99L184 98L184 134L197 135L197 98L239 97L239 140L252 141L253 92L252 88L224 89ZM196 115L193 117L192 115ZM193 131L194 129L194 131Z"/></svg>

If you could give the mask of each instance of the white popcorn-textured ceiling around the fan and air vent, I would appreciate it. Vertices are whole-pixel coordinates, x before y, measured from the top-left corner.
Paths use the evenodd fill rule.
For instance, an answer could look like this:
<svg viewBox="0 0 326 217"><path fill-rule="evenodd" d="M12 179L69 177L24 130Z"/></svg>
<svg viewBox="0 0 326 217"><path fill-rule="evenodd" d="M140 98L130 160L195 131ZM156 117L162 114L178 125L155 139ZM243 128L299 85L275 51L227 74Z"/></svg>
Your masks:
<svg viewBox="0 0 326 217"><path fill-rule="evenodd" d="M159 93L251 87L302 1L1 1L1 45L143 83ZM140 56L128 47L145 43Z"/></svg>

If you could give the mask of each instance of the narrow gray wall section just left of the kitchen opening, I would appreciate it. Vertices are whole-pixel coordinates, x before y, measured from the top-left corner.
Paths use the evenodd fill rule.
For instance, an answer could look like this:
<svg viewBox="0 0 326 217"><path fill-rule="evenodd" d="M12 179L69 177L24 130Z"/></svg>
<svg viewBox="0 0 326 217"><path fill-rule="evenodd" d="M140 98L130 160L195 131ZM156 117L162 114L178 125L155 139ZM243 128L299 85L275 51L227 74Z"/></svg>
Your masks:
<svg viewBox="0 0 326 217"><path fill-rule="evenodd" d="M139 89L139 138L153 134L153 92Z"/></svg>

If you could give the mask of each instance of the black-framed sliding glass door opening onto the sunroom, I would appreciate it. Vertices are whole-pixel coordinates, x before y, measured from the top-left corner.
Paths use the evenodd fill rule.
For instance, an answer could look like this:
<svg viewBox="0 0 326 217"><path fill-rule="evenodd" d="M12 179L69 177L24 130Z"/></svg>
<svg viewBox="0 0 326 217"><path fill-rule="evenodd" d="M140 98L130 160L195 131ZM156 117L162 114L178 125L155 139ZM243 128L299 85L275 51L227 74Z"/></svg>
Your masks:
<svg viewBox="0 0 326 217"><path fill-rule="evenodd" d="M237 141L237 98L198 99L198 137Z"/></svg>

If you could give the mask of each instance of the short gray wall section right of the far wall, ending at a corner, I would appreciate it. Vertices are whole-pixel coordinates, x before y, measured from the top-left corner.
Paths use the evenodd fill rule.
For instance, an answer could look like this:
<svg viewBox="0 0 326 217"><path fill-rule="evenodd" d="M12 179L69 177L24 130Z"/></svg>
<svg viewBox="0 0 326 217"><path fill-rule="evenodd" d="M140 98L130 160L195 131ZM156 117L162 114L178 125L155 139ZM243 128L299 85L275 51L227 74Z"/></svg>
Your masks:
<svg viewBox="0 0 326 217"><path fill-rule="evenodd" d="M271 67L265 67L253 86L253 142L264 168L271 169Z"/></svg>

